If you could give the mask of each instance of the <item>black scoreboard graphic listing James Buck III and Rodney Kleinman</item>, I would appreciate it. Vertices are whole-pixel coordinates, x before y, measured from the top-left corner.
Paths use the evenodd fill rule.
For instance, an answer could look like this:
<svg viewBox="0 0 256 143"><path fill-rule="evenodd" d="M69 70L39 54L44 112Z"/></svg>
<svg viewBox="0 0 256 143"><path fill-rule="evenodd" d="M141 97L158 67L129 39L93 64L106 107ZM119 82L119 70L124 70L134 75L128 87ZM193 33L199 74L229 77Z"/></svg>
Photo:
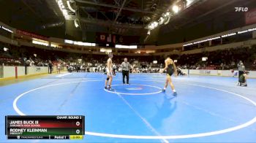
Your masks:
<svg viewBox="0 0 256 143"><path fill-rule="evenodd" d="M7 139L83 139L84 116L5 116Z"/></svg>

